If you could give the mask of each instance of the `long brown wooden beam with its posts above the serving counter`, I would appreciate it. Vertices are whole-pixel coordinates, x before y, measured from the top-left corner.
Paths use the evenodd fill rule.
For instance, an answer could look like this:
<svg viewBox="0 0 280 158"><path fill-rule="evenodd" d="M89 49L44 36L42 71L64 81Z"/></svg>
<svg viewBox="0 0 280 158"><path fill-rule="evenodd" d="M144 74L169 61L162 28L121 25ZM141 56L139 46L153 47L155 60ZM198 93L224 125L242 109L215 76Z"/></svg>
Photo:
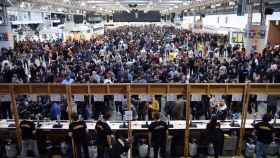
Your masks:
<svg viewBox="0 0 280 158"><path fill-rule="evenodd" d="M19 115L16 107L16 95L36 94L66 95L68 104L68 115L71 119L72 113L72 95L114 95L125 94L128 97L128 109L131 108L131 95L167 95L176 94L185 96L185 147L184 155L188 157L189 135L190 135L190 97L191 95L240 95L243 97L243 106L241 114L241 124L239 133L239 143L236 155L242 151L242 142L245 134L245 124L247 117L248 101L250 95L280 95L280 84L271 83L236 83L236 84L0 84L0 94L11 96L11 110L15 119L17 141L21 142L21 132L19 128ZM131 122L128 123L128 136L132 136Z"/></svg>

